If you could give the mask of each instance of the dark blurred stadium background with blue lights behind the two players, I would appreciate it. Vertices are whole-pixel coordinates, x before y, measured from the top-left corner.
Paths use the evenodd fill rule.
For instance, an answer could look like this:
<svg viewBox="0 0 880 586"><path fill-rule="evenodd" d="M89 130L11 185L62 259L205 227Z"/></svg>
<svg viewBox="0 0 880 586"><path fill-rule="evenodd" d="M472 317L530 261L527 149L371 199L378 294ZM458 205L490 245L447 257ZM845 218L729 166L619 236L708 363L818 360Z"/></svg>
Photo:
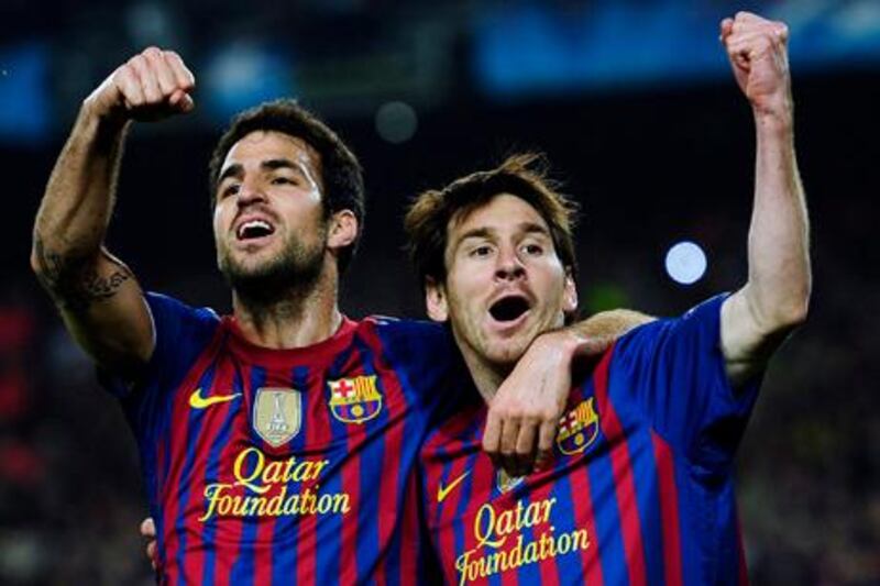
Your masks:
<svg viewBox="0 0 880 586"><path fill-rule="evenodd" d="M229 115L297 96L362 158L352 316L422 316L405 201L519 150L583 204L585 311L678 313L741 284L750 112L717 43L738 9L791 26L813 221L812 314L780 352L739 457L757 585L880 584L880 1L3 0L0 7L0 583L150 584L121 412L29 270L31 224L81 100L148 44L177 49L197 112L134 129L111 250L142 284L229 307L206 166ZM667 272L692 241L691 285ZM694 268L695 267L695 268ZM690 279L689 279L690 280Z"/></svg>

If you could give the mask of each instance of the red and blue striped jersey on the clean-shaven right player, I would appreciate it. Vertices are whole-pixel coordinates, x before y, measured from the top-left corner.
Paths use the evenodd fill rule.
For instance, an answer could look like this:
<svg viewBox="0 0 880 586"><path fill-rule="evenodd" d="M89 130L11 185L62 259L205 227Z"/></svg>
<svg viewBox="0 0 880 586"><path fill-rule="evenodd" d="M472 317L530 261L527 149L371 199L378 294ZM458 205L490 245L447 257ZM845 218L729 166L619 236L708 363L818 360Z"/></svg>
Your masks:
<svg viewBox="0 0 880 586"><path fill-rule="evenodd" d="M758 383L730 388L723 297L623 336L572 389L549 469L507 477L468 406L421 452L427 526L449 583L746 584L733 457Z"/></svg>

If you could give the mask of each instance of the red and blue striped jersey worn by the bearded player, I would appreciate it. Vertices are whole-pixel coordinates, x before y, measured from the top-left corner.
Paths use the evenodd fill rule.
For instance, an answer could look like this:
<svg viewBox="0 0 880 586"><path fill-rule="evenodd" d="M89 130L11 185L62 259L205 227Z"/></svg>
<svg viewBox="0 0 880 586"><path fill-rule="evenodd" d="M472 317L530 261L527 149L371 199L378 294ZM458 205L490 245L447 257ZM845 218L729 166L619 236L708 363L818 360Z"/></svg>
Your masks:
<svg viewBox="0 0 880 586"><path fill-rule="evenodd" d="M345 319L319 344L270 350L230 317L147 302L143 379L106 383L138 438L160 583L424 583L430 549L403 504L418 501L419 445L444 400L444 329Z"/></svg>

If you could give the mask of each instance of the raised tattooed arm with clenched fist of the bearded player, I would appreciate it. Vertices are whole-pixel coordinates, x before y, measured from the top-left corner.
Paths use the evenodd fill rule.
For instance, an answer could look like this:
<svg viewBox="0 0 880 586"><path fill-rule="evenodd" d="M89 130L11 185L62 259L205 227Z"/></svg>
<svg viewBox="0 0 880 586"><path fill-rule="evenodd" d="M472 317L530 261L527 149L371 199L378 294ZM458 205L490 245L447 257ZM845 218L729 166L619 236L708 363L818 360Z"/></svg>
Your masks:
<svg viewBox="0 0 880 586"><path fill-rule="evenodd" d="M147 48L84 102L34 222L31 266L74 339L105 368L134 374L153 352L148 309L131 270L103 246L132 120L193 109L193 74Z"/></svg>

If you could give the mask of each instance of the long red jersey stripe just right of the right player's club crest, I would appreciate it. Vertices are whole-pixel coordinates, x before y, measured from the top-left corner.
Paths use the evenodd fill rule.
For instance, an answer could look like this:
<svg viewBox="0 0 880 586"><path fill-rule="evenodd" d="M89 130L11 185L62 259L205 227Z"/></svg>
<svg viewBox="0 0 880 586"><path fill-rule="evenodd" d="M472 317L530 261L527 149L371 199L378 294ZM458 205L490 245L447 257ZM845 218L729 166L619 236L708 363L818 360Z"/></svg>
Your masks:
<svg viewBox="0 0 880 586"><path fill-rule="evenodd" d="M612 473L614 476L614 490L620 515L620 524L624 534L624 552L626 555L629 584L642 586L647 583L645 570L645 545L641 537L638 505L636 501L636 479L632 475L632 464L629 446L624 436L624 429L617 412L608 398L608 366L614 354L614 349L607 351L594 374L596 400L598 402L600 424L605 439L612 446Z"/></svg>

